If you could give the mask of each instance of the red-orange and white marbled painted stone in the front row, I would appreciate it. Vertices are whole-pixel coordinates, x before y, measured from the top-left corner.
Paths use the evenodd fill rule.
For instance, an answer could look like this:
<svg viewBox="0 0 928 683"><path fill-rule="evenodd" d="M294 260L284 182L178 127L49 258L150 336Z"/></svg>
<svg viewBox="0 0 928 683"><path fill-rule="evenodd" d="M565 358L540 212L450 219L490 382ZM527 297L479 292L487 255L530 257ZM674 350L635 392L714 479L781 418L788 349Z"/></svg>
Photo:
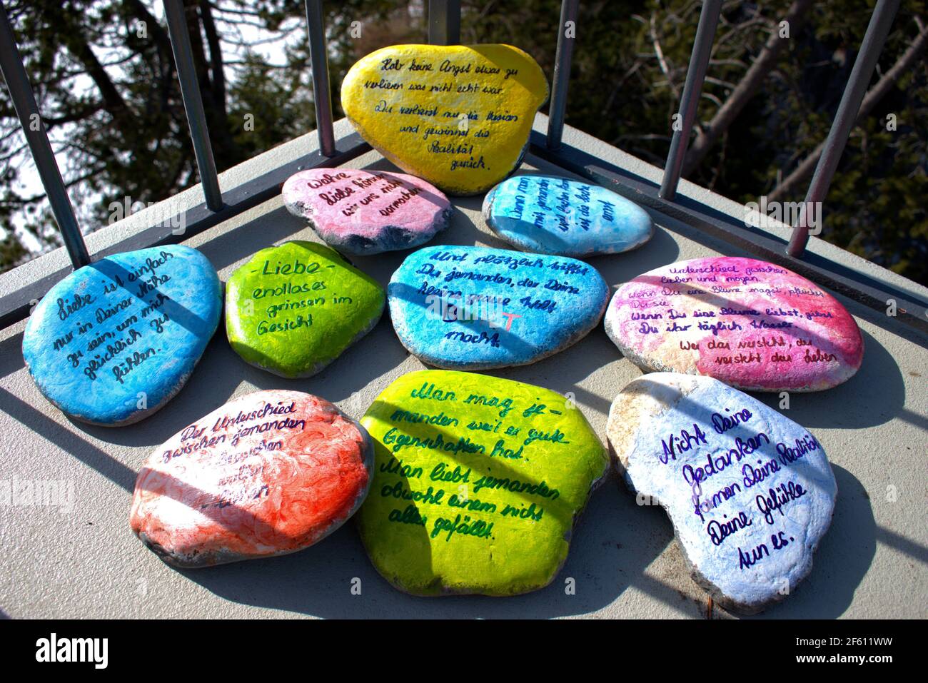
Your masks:
<svg viewBox="0 0 928 683"><path fill-rule="evenodd" d="M354 514L373 443L309 393L250 393L177 432L135 480L129 523L161 560L206 567L308 548Z"/></svg>

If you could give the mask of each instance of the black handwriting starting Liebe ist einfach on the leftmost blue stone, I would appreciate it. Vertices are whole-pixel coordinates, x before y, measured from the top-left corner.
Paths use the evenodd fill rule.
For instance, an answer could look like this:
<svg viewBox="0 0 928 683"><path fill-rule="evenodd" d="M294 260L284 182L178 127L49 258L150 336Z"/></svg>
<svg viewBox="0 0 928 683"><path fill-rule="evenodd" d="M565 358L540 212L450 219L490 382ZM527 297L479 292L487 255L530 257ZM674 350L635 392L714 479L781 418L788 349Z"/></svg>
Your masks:
<svg viewBox="0 0 928 683"><path fill-rule="evenodd" d="M183 285L175 287L174 252L148 251L150 255L137 263L117 258L97 262L92 275L83 276L84 287L52 303L56 336L45 353L60 358L61 367L83 375L88 386L107 378L110 391L116 385L135 391L142 380L132 380L139 371L145 373L139 368L172 353L177 335L186 337L191 326L200 327L168 293L184 290ZM206 334L209 326L202 327Z"/></svg>

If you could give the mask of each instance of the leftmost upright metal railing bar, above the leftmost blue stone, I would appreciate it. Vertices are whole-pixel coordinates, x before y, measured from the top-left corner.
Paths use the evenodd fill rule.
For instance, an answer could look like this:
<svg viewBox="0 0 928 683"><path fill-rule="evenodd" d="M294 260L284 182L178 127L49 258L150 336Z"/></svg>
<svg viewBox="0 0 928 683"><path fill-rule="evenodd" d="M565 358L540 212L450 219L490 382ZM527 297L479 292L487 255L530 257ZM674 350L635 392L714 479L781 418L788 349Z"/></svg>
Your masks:
<svg viewBox="0 0 928 683"><path fill-rule="evenodd" d="M13 27L10 25L6 7L2 2L0 2L0 71L3 72L6 88L13 100L13 108L22 125L22 132L26 135L32 160L35 161L35 167L42 178L45 195L48 197L48 203L51 204L55 222L58 223L58 232L61 233L61 239L71 257L71 264L76 270L90 263L90 254L87 252L81 227L74 215L68 189L61 178L55 152L48 142L45 122L42 121L39 107L35 103L29 77L26 75L22 58L19 56Z"/></svg>

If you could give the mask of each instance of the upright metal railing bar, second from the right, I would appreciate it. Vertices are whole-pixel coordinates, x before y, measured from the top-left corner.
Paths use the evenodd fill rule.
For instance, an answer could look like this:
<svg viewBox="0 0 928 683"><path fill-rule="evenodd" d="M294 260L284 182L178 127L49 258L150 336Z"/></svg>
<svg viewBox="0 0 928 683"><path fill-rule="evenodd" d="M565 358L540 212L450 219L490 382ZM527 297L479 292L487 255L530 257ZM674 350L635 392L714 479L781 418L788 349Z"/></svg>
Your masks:
<svg viewBox="0 0 928 683"><path fill-rule="evenodd" d="M696 38L693 41L693 51L690 55L690 67L687 69L687 80L683 85L683 96L680 97L680 127L674 131L670 141L670 151L667 153L667 162L664 164L664 180L661 182L660 196L665 200L673 200L677 194L677 185L680 182L680 172L683 169L683 160L690 145L690 134L693 122L696 121L696 110L699 108L699 98L702 95L702 82L709 66L709 57L712 54L712 44L715 40L715 27L718 25L718 15L722 9L722 0L704 0L699 15L699 25L696 27Z"/></svg>

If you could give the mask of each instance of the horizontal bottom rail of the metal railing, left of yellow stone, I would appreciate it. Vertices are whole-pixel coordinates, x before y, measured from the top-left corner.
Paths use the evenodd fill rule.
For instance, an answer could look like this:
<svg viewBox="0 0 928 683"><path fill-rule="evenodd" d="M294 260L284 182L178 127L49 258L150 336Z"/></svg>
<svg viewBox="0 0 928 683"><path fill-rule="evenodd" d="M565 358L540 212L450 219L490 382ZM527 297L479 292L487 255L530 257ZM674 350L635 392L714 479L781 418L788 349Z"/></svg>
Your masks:
<svg viewBox="0 0 928 683"><path fill-rule="evenodd" d="M121 251L135 251L162 244L176 244L187 240L234 218L257 206L258 204L279 196L280 187L290 175L309 168L331 168L348 163L370 151L370 145L357 133L345 135L336 143L334 156L326 156L316 150L306 156L278 166L266 174L252 178L238 187L226 191L226 203L218 212L201 202L179 215L161 221L157 226L149 226L111 244L97 253L98 257L108 256ZM175 226L183 226L178 231ZM35 280L19 290L0 297L0 329L12 325L29 315L32 301L45 296L59 280L70 273L70 269L61 268L56 272Z"/></svg>

